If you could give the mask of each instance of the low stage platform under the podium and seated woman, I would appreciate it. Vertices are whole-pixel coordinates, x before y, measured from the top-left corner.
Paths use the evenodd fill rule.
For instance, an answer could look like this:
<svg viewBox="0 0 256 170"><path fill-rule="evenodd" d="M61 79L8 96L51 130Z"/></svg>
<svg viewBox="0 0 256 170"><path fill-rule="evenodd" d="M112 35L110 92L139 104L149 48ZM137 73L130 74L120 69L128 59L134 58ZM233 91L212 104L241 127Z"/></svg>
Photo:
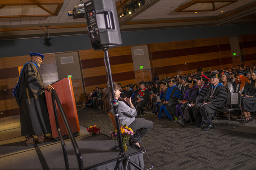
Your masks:
<svg viewBox="0 0 256 170"><path fill-rule="evenodd" d="M11 119L10 119L11 118ZM118 144L108 136L97 133L93 137L87 127L80 125L80 136L75 137L82 154L85 169L113 170L119 151L112 150ZM49 134L47 134L49 136ZM36 137L36 136L35 136ZM64 170L65 163L60 142L25 145L20 136L19 115L0 119L0 170ZM79 169L70 139L65 140L70 170ZM144 168L143 153L128 146L126 155ZM119 167L119 170L121 166ZM129 167L134 169L134 167Z"/></svg>

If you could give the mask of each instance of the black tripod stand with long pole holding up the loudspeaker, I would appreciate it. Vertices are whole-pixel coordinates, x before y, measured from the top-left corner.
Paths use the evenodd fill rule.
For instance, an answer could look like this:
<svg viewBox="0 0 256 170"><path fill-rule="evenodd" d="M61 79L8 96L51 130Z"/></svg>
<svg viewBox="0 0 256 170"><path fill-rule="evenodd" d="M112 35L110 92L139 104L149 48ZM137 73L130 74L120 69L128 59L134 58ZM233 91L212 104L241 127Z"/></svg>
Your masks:
<svg viewBox="0 0 256 170"><path fill-rule="evenodd" d="M114 86L113 86L113 80L112 80L112 74L111 74L111 68L110 68L110 62L109 62L109 56L108 56L108 49L104 48L104 53L105 53L105 65L106 65L106 71L108 74L108 79L110 81L110 88L111 88L111 95L112 95L112 100L111 100L111 104L113 106L114 109L114 117L115 117L115 122L116 122L116 132L117 132L117 138L119 140L119 148L120 148L120 155L121 158L117 159L117 163L115 166L114 170L117 170L117 168L119 167L119 164L122 162L123 165L125 165L124 170L128 170L128 165L132 164L134 167L136 167L139 170L143 170L143 168L141 168L139 165L135 164L133 161L130 160L130 157L125 156L125 150L124 150L124 146L123 146L123 140L122 140L122 133L120 130L120 123L119 123L119 115L118 115L118 100L115 99L115 93L114 93ZM108 89L109 90L109 89Z"/></svg>

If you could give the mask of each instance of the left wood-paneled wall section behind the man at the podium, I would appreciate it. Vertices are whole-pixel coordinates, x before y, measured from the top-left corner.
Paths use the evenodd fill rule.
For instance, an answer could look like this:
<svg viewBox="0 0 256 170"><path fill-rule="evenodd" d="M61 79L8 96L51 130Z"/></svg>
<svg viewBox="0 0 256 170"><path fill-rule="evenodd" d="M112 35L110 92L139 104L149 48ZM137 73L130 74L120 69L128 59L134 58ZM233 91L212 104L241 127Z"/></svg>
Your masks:
<svg viewBox="0 0 256 170"><path fill-rule="evenodd" d="M44 55L41 68L48 74L57 74L54 54ZM20 113L12 91L19 80L18 66L23 66L30 59L29 55L0 58L0 118ZM38 71L45 74L41 69Z"/></svg>

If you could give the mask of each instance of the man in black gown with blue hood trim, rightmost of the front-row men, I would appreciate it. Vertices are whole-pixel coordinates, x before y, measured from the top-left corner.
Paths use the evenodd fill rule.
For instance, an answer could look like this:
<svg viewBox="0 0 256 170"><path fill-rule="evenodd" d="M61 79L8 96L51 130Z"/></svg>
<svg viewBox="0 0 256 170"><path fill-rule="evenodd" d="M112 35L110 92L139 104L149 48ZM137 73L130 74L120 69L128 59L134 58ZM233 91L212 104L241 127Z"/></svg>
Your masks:
<svg viewBox="0 0 256 170"><path fill-rule="evenodd" d="M204 130L214 128L212 117L215 114L215 110L224 108L224 104L227 100L227 89L219 82L219 78L220 76L218 76L217 73L212 72L210 96L200 108L201 115L207 124L207 127L205 127Z"/></svg>

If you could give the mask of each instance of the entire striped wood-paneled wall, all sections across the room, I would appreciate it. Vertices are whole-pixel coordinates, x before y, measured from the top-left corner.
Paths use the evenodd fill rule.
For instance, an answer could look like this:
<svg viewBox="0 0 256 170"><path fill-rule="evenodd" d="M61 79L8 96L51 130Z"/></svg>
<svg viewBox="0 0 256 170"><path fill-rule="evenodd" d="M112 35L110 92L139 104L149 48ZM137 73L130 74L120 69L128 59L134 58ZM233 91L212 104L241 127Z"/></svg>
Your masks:
<svg viewBox="0 0 256 170"><path fill-rule="evenodd" d="M239 36L239 42L243 55L242 62L247 65L256 63L256 35ZM113 48L108 52L113 81L122 83L122 86L135 84L131 46ZM157 73L160 79L192 73L199 67L207 71L208 68L217 70L220 66L234 66L229 37L148 44L148 53L152 76ZM57 75L54 54L44 55L41 67L48 74ZM79 55L86 93L91 93L96 87L106 87L104 52L81 50ZM0 118L19 114L12 90L19 79L17 67L29 60L29 55L0 58L0 112L3 113L0 114ZM39 71L40 74L44 74L41 69Z"/></svg>

